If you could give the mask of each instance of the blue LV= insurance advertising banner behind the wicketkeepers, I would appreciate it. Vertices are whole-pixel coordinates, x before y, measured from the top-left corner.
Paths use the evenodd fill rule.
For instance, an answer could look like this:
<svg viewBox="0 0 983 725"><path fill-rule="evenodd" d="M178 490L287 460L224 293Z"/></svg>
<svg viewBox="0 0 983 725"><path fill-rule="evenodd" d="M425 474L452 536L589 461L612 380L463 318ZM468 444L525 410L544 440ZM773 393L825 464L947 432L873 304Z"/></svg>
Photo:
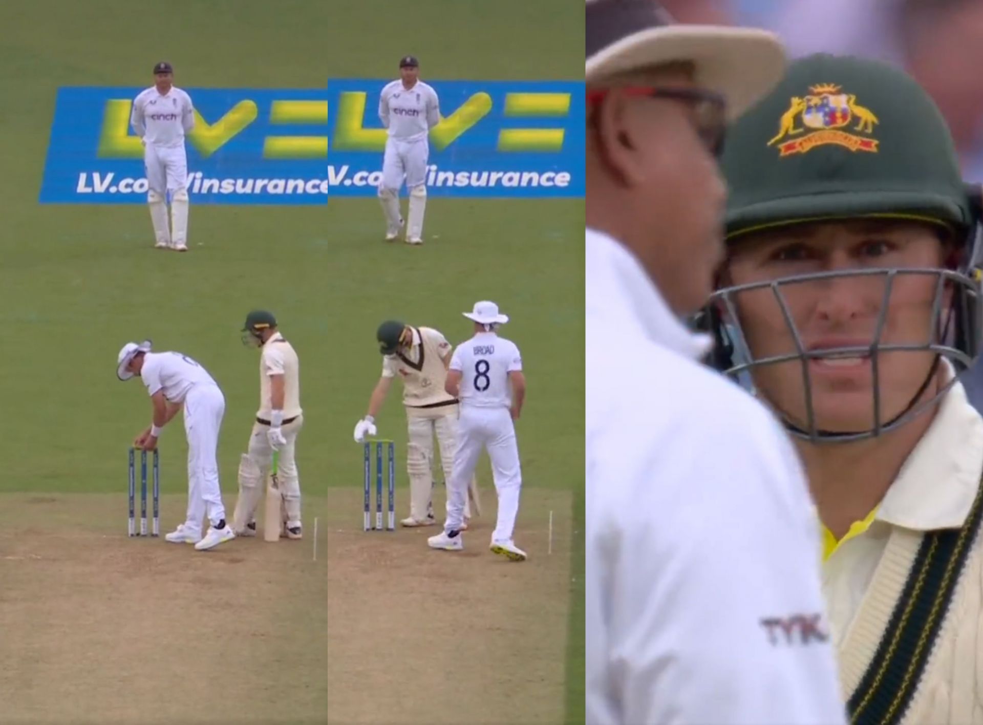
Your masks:
<svg viewBox="0 0 983 725"><path fill-rule="evenodd" d="M322 204L376 195L385 131L384 80L325 89L186 88L195 203ZM440 123L430 134L428 194L584 195L584 84L434 81ZM58 90L41 203L145 203L144 147L130 127L143 88Z"/></svg>

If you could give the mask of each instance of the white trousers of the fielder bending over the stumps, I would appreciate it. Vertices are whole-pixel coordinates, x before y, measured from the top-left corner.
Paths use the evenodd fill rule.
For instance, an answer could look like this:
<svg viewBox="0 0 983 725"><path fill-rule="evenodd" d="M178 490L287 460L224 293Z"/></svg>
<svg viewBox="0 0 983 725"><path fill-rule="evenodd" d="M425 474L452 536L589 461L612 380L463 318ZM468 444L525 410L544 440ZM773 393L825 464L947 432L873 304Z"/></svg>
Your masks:
<svg viewBox="0 0 983 725"><path fill-rule="evenodd" d="M218 485L218 432L225 415L225 396L217 385L195 385L184 404L188 435L188 518L185 528L202 532L202 519L212 526L225 518Z"/></svg>

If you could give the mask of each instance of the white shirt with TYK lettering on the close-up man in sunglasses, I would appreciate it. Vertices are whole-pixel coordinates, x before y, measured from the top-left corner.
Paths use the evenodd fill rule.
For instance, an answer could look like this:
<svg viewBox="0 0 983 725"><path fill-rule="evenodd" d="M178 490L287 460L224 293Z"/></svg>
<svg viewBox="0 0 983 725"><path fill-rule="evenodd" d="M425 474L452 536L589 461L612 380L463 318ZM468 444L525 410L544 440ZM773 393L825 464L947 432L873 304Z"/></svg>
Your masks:
<svg viewBox="0 0 983 725"><path fill-rule="evenodd" d="M633 254L586 248L588 725L843 723L794 449Z"/></svg>

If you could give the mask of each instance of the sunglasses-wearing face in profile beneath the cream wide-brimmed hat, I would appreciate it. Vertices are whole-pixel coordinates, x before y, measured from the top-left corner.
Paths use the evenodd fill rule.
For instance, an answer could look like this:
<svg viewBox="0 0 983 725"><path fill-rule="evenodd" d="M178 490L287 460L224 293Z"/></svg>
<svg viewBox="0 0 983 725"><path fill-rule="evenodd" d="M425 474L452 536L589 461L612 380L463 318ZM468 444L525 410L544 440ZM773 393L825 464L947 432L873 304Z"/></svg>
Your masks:
<svg viewBox="0 0 983 725"><path fill-rule="evenodd" d="M612 226L669 307L688 313L706 303L723 258L725 189L701 105L637 92L645 87L696 88L692 70L676 64L618 79L606 90L590 109L587 168L589 179L607 181L604 194L589 194L588 203L609 207Z"/></svg>

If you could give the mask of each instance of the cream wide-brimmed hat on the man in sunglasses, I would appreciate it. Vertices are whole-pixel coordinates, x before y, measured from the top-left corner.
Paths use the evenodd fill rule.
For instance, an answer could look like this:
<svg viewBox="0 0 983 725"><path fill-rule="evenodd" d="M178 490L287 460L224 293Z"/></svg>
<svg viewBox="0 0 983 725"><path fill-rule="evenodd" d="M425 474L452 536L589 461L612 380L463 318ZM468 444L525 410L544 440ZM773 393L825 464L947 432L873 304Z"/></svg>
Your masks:
<svg viewBox="0 0 983 725"><path fill-rule="evenodd" d="M588 86L622 73L690 61L696 84L726 98L730 120L784 74L784 48L768 30L675 24L655 0L587 0L586 13Z"/></svg>

